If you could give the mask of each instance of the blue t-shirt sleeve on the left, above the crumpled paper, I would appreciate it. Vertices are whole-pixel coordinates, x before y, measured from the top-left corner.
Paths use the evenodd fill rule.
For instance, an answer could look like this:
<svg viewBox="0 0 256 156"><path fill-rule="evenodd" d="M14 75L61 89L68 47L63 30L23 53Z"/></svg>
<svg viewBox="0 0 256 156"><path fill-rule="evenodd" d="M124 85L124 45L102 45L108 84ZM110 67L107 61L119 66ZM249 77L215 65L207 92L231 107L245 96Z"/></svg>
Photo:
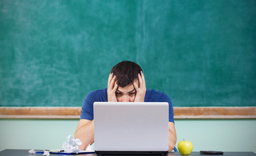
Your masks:
<svg viewBox="0 0 256 156"><path fill-rule="evenodd" d="M93 103L94 103L94 92L89 92L85 97L85 101L83 102L83 107L81 110L81 119L93 120Z"/></svg>

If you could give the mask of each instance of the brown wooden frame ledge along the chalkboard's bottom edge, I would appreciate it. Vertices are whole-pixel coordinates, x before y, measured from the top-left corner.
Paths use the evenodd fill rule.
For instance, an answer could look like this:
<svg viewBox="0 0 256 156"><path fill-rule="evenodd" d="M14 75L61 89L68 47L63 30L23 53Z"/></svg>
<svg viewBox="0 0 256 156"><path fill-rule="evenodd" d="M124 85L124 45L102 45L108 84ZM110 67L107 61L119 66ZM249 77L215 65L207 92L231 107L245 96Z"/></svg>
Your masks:
<svg viewBox="0 0 256 156"><path fill-rule="evenodd" d="M256 107L174 107L175 119L255 119ZM79 119L81 107L0 107L0 118Z"/></svg>

